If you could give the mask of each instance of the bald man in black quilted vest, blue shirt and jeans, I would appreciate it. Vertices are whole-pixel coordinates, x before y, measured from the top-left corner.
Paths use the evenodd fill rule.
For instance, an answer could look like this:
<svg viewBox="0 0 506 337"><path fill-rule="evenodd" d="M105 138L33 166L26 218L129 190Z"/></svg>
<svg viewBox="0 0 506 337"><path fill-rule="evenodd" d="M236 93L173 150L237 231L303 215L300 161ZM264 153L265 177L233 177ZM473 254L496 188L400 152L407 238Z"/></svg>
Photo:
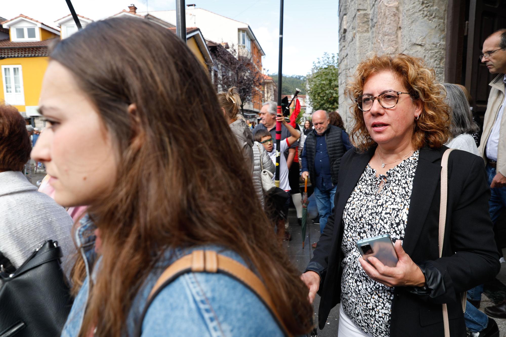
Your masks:
<svg viewBox="0 0 506 337"><path fill-rule="evenodd" d="M302 151L302 178L311 179L320 214L320 233L334 208L335 188L338 184L341 157L352 148L348 134L328 122L325 110L313 112L314 130L310 132ZM316 248L316 243L312 244Z"/></svg>

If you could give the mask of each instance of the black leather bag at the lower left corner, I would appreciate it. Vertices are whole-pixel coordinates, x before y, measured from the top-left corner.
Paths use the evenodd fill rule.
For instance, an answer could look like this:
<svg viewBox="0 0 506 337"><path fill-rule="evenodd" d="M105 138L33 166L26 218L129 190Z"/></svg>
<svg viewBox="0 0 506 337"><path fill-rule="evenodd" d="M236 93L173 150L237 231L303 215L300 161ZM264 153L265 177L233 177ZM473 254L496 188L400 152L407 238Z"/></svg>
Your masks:
<svg viewBox="0 0 506 337"><path fill-rule="evenodd" d="M73 302L62 256L58 242L48 240L14 270L0 252L0 337L61 334Z"/></svg>

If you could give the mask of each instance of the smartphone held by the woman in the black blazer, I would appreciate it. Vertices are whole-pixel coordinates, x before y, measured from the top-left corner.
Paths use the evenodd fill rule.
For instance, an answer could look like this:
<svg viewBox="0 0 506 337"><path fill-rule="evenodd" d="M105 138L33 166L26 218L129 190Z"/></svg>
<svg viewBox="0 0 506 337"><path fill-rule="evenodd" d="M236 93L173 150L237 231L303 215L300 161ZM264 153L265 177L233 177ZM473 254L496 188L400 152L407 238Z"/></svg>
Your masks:
<svg viewBox="0 0 506 337"><path fill-rule="evenodd" d="M390 234L358 240L357 248L365 261L368 257L373 256L389 267L395 267L399 261Z"/></svg>

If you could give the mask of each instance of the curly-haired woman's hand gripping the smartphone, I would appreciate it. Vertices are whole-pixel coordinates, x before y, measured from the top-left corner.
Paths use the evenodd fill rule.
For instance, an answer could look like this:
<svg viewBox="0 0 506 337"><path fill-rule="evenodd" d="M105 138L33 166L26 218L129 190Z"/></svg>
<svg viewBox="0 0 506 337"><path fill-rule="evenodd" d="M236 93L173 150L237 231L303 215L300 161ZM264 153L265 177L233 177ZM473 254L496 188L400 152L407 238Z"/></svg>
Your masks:
<svg viewBox="0 0 506 337"><path fill-rule="evenodd" d="M425 276L420 268L411 260L409 255L402 249L401 240L395 242L395 251L399 261L397 266L388 267L374 257L369 257L369 264L362 257L358 259L365 273L374 281L385 284L389 287L396 286L424 286Z"/></svg>

